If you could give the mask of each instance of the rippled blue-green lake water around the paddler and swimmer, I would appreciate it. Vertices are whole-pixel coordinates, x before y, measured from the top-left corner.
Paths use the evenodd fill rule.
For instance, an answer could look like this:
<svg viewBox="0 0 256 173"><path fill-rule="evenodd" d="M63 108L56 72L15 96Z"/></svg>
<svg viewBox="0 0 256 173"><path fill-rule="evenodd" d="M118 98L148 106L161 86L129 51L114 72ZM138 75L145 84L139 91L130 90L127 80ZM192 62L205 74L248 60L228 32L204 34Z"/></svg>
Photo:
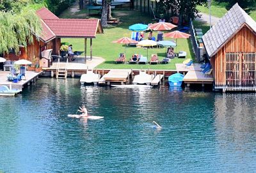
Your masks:
<svg viewBox="0 0 256 173"><path fill-rule="evenodd" d="M256 171L255 94L64 81L0 98L0 172ZM83 104L104 119L67 117Z"/></svg>

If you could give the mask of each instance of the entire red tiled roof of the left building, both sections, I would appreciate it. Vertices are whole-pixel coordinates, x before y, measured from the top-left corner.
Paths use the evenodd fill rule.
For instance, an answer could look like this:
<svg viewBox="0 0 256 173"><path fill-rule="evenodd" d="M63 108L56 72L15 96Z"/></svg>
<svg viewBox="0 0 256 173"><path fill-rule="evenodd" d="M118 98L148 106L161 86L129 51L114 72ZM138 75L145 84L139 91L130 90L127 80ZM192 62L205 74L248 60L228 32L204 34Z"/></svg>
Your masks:
<svg viewBox="0 0 256 173"><path fill-rule="evenodd" d="M36 11L42 19L41 40L47 42L56 37L95 38L103 33L99 19L59 19L47 8Z"/></svg>

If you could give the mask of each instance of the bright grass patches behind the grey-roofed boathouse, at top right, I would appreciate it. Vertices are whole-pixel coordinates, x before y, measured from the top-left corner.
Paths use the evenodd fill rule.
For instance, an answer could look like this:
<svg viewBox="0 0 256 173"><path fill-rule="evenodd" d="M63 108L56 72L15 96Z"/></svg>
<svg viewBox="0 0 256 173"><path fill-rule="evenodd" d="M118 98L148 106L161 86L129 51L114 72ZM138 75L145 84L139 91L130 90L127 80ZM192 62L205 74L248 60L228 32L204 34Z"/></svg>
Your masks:
<svg viewBox="0 0 256 173"><path fill-rule="evenodd" d="M218 3L217 1L212 0L211 15L219 18L223 17L223 15L227 13L227 9L225 8L226 4L227 3ZM202 13L209 13L209 8L206 6L198 6L197 9ZM256 20L256 9L250 12L250 17L252 17L253 20Z"/></svg>

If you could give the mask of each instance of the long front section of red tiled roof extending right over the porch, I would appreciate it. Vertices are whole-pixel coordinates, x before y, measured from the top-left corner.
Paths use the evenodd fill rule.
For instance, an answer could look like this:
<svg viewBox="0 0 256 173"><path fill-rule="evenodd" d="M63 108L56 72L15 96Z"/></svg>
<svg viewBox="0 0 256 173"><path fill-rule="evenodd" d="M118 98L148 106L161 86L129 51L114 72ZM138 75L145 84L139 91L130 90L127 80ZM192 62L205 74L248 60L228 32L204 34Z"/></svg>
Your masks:
<svg viewBox="0 0 256 173"><path fill-rule="evenodd" d="M99 19L45 19L44 22L60 37L95 38L98 27L102 33Z"/></svg>

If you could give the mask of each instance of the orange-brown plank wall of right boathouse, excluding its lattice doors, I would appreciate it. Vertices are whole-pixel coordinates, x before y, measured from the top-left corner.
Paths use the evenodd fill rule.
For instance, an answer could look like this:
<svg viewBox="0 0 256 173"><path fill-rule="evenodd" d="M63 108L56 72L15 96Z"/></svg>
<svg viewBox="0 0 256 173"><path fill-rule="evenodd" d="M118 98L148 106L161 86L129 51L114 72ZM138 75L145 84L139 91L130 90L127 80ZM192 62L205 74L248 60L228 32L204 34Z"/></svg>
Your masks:
<svg viewBox="0 0 256 173"><path fill-rule="evenodd" d="M216 88L226 85L226 53L228 52L256 52L256 36L244 25L213 57L211 64Z"/></svg>

